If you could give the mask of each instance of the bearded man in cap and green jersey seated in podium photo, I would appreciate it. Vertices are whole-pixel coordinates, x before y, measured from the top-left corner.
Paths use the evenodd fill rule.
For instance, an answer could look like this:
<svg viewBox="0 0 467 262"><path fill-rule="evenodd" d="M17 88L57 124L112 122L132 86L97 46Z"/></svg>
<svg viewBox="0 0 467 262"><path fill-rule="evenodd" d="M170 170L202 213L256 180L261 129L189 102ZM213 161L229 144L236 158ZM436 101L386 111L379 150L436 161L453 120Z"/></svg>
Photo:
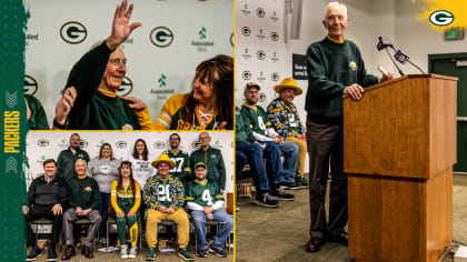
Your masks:
<svg viewBox="0 0 467 262"><path fill-rule="evenodd" d="M298 145L287 142L279 135L268 119L265 110L258 105L258 92L260 88L257 83L250 82L245 87L245 103L241 105L241 114L247 124L250 125L255 139L260 143L277 143L280 152L284 153L284 187L286 189L299 189L295 183L294 175L297 169Z"/></svg>

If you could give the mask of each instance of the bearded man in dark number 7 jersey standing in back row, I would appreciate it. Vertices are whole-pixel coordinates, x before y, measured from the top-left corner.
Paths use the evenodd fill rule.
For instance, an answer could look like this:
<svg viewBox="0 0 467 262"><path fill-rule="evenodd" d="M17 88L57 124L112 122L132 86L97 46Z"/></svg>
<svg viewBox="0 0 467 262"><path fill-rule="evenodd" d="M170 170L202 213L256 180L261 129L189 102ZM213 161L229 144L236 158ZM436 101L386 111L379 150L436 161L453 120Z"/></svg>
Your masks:
<svg viewBox="0 0 467 262"><path fill-rule="evenodd" d="M187 185L191 174L190 158L188 157L188 153L178 148L180 144L180 135L178 135L178 133L170 134L169 142L170 149L163 153L167 153L176 163L176 167L170 170L170 175L179 178L183 185Z"/></svg>

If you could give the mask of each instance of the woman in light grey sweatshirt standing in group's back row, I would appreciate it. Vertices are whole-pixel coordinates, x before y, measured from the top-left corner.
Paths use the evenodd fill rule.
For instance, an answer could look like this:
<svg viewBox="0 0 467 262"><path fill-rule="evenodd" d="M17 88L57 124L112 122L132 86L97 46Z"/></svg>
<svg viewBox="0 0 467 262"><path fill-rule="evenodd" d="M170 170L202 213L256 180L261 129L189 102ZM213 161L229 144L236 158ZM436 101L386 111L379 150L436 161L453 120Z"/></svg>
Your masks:
<svg viewBox="0 0 467 262"><path fill-rule="evenodd" d="M96 157L89 161L88 164L88 177L93 178L99 184L99 192L101 195L101 205L99 213L102 216L100 223L99 235L101 235L101 242L106 243L106 224L107 216L109 214L109 202L110 202L110 187L112 182L118 178L118 167L120 160L113 158L112 147L110 143L103 143L99 150L99 157Z"/></svg>

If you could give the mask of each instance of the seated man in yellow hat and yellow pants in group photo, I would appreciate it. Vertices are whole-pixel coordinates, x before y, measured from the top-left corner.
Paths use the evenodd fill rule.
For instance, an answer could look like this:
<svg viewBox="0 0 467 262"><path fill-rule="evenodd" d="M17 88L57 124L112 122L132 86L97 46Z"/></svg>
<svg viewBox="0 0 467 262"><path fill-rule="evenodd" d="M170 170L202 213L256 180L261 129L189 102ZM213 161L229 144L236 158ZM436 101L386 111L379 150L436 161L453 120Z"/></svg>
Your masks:
<svg viewBox="0 0 467 262"><path fill-rule="evenodd" d="M186 261L195 258L187 250L189 235L188 214L181 209L185 203L185 189L181 181L170 177L170 169L176 167L175 162L166 153L160 154L158 160L152 161L157 174L149 178L145 185L146 203L146 240L148 252L146 260L156 260L157 228L162 220L170 220L177 224L178 255Z"/></svg>

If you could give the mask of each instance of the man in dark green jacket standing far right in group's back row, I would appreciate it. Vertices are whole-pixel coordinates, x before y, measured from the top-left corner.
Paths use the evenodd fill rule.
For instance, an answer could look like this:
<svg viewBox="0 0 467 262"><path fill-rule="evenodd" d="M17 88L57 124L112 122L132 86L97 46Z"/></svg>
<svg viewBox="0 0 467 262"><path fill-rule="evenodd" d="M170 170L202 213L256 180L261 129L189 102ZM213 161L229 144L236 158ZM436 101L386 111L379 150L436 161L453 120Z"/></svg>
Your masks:
<svg viewBox="0 0 467 262"><path fill-rule="evenodd" d="M199 143L201 148L193 151L190 155L191 170L195 170L195 163L203 162L208 169L209 181L216 182L223 194L226 188L226 167L223 164L222 153L218 149L210 147L211 137L207 132L199 133ZM191 180L196 178L191 175Z"/></svg>

